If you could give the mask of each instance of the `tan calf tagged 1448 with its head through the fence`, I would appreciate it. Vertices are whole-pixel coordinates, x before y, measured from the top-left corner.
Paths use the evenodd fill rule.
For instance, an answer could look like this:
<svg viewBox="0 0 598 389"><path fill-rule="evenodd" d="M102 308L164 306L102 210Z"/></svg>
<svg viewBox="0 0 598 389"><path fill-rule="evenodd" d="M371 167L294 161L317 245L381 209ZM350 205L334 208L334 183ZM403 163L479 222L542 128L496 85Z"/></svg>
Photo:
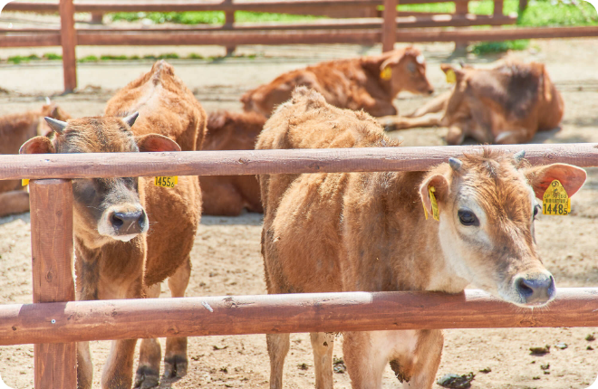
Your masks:
<svg viewBox="0 0 598 389"><path fill-rule="evenodd" d="M265 123L256 148L396 146L369 115L298 89ZM537 253L535 197L554 179L574 194L585 176L579 167L530 167L522 153L488 150L426 172L261 175L268 293L458 293L473 284L519 307L544 306L555 281ZM315 386L330 389L333 337L311 339ZM403 387L431 388L442 345L440 330L346 332L342 352L355 389L381 388L389 362ZM289 335L267 335L267 346L270 387L281 388Z"/></svg>

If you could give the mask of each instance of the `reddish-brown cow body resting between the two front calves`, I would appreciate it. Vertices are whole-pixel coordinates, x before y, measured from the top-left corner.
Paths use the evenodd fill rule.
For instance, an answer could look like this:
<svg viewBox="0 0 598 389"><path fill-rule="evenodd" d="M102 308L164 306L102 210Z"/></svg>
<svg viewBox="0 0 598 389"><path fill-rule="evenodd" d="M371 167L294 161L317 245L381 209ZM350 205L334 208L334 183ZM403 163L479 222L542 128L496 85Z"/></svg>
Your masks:
<svg viewBox="0 0 598 389"><path fill-rule="evenodd" d="M203 149L253 150L264 123L256 112L212 112ZM243 208L263 212L256 176L202 176L199 182L204 214L238 216Z"/></svg>

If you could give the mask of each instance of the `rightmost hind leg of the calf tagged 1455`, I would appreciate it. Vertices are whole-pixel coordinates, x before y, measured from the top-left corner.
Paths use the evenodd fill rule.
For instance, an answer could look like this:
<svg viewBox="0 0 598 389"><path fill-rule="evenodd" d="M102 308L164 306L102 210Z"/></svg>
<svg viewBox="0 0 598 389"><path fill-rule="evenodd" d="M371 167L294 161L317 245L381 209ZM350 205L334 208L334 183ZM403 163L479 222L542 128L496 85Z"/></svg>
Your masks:
<svg viewBox="0 0 598 389"><path fill-rule="evenodd" d="M185 297L185 290L191 275L191 260L188 258L178 270L169 277L169 288L173 298ZM164 355L164 376L182 377L187 375L187 337L167 337Z"/></svg>

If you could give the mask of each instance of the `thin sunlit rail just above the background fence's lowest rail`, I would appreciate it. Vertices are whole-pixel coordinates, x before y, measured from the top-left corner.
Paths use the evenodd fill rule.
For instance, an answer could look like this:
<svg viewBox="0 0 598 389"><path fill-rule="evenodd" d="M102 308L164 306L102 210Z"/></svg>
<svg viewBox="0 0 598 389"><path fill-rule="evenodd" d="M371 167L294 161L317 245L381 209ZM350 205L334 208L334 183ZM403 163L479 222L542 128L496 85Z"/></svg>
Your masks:
<svg viewBox="0 0 598 389"><path fill-rule="evenodd" d="M398 28L421 28L421 27L458 27L470 25L504 25L515 24L516 15L487 15L487 14L432 14L420 16L404 16L397 18ZM177 26L140 26L140 27L96 27L78 28L79 33L130 33L130 32L199 32L199 31L252 31L252 30L358 30L381 28L381 18L363 17L355 19L319 19L313 22L298 23L236 23L233 25L205 24L205 25L177 25ZM0 33L57 33L60 28L52 27L24 27L7 28L0 27Z"/></svg>

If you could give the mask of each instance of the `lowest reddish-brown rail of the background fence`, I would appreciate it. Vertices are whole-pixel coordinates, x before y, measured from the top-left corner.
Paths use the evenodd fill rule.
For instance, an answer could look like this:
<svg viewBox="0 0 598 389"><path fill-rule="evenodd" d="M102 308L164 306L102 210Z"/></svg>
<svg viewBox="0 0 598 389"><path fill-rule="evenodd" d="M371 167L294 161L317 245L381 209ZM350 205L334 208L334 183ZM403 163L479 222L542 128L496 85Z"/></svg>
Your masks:
<svg viewBox="0 0 598 389"><path fill-rule="evenodd" d="M598 36L598 26L585 27L533 27L501 29L462 30L410 30L400 29L396 42L477 42L504 41L512 39L574 38ZM0 35L0 47L31 47L59 45L58 33L5 33ZM275 32L173 32L160 31L78 31L79 45L194 45L216 44L237 46L240 44L317 44L355 43L372 44L381 40L380 29L314 30Z"/></svg>

